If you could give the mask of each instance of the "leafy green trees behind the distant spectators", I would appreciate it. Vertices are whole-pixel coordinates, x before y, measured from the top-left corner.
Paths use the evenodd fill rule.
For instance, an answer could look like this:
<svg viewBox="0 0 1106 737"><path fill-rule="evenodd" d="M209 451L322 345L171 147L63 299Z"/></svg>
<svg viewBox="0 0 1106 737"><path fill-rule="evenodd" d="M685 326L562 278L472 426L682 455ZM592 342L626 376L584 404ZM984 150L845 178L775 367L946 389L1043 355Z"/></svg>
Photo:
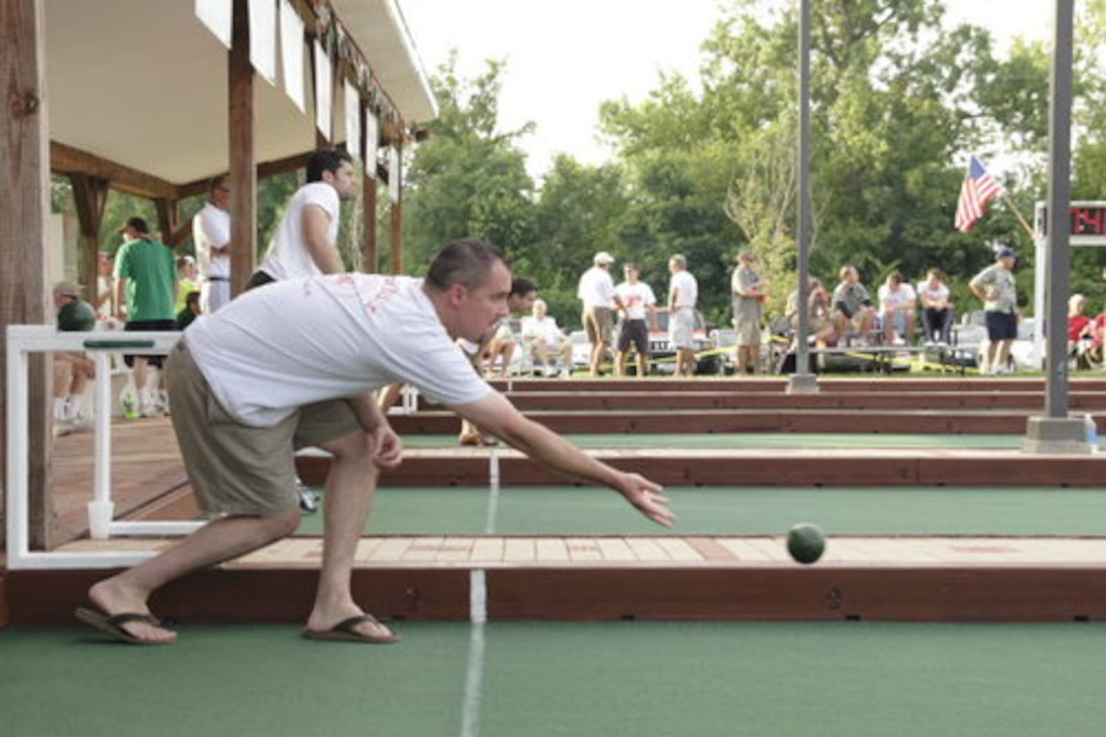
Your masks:
<svg viewBox="0 0 1106 737"><path fill-rule="evenodd" d="M1073 197L1106 198L1106 2L1077 22ZM911 282L929 267L950 277L961 309L968 280L1001 241L1021 252L1021 301L1034 253L1018 214L1045 197L1048 65L1044 44L999 54L990 33L950 27L939 0L826 0L813 23L812 271L827 286L844 263L873 289L893 269ZM797 25L791 2L734 0L703 40L696 80L661 74L645 100L608 101L601 128L617 164L555 159L536 190L515 144L499 133L502 64L476 80L456 59L432 80L441 117L411 162L408 252L425 260L474 235L510 253L562 324L575 326L575 286L597 250L633 259L664 299L667 259L689 259L701 307L729 322L733 256L751 249L773 283L770 311L795 282ZM969 152L992 165L1009 198L969 233L953 229ZM1073 256L1073 289L1106 301L1106 250Z"/></svg>

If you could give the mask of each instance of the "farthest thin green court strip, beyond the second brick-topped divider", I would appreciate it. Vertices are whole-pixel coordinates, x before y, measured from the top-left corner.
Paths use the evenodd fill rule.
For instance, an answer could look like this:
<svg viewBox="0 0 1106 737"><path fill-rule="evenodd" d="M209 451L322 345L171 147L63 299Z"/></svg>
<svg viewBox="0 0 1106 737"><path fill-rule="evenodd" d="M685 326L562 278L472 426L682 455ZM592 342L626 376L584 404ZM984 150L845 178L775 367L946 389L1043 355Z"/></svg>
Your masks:
<svg viewBox="0 0 1106 737"><path fill-rule="evenodd" d="M1015 434L941 433L581 433L564 437L582 448L1020 448L1025 442L1024 435ZM405 435L403 440L408 448L457 447L456 435Z"/></svg>

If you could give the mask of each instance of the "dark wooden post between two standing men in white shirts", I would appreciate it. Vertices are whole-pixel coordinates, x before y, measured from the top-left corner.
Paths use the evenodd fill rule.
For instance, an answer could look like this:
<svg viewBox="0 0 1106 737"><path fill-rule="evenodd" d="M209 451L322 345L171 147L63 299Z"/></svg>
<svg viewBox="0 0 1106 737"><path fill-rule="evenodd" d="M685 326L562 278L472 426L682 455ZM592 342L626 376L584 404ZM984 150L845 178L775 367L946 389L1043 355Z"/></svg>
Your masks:
<svg viewBox="0 0 1106 737"><path fill-rule="evenodd" d="M253 68L247 0L234 0L230 49L230 292L240 294L258 264L258 167L253 153Z"/></svg>

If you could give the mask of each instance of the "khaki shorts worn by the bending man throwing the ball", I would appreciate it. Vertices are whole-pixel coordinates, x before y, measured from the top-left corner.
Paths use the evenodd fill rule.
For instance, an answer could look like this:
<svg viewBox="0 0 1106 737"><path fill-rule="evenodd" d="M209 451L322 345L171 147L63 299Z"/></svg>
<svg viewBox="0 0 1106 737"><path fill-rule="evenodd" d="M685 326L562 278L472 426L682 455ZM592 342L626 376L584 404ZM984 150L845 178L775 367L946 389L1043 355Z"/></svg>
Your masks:
<svg viewBox="0 0 1106 737"><path fill-rule="evenodd" d="M185 341L167 363L173 428L208 515L272 517L296 508L295 449L322 445L361 428L345 399L300 407L271 427L233 419L211 393Z"/></svg>

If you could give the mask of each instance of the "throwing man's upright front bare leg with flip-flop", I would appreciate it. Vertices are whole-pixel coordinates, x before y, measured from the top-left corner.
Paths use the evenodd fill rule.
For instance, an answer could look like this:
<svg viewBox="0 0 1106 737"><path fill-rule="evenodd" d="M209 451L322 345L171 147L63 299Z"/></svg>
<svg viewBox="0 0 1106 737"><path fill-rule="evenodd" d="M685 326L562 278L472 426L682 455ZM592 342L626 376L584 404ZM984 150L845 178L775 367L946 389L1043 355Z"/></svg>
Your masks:
<svg viewBox="0 0 1106 737"><path fill-rule="evenodd" d="M351 574L378 476L373 440L365 433L351 433L322 447L334 454L334 461L323 502L323 565L315 604L307 617L307 629L314 632L331 630L365 613L353 600ZM374 637L392 634L388 627L372 622L362 622L354 631Z"/></svg>

